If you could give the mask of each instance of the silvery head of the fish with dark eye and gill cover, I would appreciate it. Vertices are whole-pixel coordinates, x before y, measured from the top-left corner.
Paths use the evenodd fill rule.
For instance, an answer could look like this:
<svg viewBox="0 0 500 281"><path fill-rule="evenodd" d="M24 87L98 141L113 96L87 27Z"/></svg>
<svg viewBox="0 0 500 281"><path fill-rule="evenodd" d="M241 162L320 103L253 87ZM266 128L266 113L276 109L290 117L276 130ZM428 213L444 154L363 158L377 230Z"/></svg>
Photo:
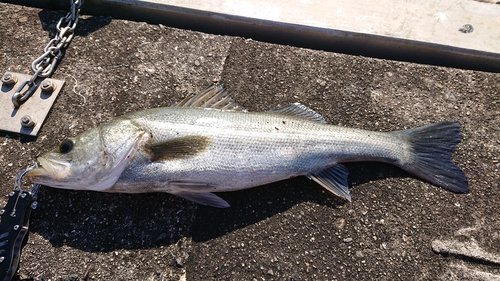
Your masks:
<svg viewBox="0 0 500 281"><path fill-rule="evenodd" d="M123 124L101 125L38 157L26 177L63 189L104 191L115 184L137 151L144 132Z"/></svg>

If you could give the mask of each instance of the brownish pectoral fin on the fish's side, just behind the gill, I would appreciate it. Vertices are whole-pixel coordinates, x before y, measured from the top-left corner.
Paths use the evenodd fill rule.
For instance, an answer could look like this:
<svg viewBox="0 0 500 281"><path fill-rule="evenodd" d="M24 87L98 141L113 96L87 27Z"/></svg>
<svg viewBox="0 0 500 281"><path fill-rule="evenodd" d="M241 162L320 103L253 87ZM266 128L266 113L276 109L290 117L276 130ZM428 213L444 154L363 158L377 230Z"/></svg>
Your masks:
<svg viewBox="0 0 500 281"><path fill-rule="evenodd" d="M210 144L205 136L186 136L146 145L151 151L151 161L160 162L188 158L203 152Z"/></svg>

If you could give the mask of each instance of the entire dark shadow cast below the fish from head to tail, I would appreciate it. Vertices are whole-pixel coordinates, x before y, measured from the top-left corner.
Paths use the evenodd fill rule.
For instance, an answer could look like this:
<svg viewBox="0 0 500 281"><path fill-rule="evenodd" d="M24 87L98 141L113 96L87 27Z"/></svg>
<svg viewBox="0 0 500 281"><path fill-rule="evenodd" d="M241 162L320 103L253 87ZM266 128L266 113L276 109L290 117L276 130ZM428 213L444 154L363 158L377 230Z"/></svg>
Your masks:
<svg viewBox="0 0 500 281"><path fill-rule="evenodd" d="M351 188L381 178L408 177L386 164L346 166L351 171ZM349 204L305 177L218 195L231 207L206 207L165 193L112 194L42 187L31 231L54 247L67 245L88 252L149 249L175 244L182 237L208 241L304 202L331 207L332 212Z"/></svg>

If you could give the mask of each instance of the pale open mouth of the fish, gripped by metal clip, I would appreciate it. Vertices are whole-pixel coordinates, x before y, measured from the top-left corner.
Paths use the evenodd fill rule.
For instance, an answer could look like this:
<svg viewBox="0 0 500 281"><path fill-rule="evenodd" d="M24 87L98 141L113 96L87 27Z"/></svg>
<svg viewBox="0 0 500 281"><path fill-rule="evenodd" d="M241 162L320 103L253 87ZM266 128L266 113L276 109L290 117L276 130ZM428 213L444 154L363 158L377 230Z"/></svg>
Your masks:
<svg viewBox="0 0 500 281"><path fill-rule="evenodd" d="M71 163L64 160L46 159L38 157L38 168L28 171L26 177L32 183L53 184L69 174Z"/></svg>

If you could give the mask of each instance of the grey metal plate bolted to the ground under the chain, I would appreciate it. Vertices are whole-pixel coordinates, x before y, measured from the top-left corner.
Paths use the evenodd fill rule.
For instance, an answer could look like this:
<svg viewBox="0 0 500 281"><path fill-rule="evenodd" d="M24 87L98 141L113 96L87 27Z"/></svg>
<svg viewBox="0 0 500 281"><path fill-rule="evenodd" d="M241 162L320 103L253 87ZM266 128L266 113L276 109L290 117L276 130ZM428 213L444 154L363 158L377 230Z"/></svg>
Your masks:
<svg viewBox="0 0 500 281"><path fill-rule="evenodd" d="M2 90L0 92L0 130L36 136L52 104L54 104L59 91L61 91L64 81L51 78L36 80L36 83L39 85L45 81L52 82L54 90L46 93L38 87L35 93L16 109L12 103L12 95L18 90L21 83L31 78L31 75L15 72L6 72L5 74L13 75L17 81L16 84L11 86L2 84ZM35 125L31 128L23 127L21 125L21 118L24 116L30 116L35 122Z"/></svg>

